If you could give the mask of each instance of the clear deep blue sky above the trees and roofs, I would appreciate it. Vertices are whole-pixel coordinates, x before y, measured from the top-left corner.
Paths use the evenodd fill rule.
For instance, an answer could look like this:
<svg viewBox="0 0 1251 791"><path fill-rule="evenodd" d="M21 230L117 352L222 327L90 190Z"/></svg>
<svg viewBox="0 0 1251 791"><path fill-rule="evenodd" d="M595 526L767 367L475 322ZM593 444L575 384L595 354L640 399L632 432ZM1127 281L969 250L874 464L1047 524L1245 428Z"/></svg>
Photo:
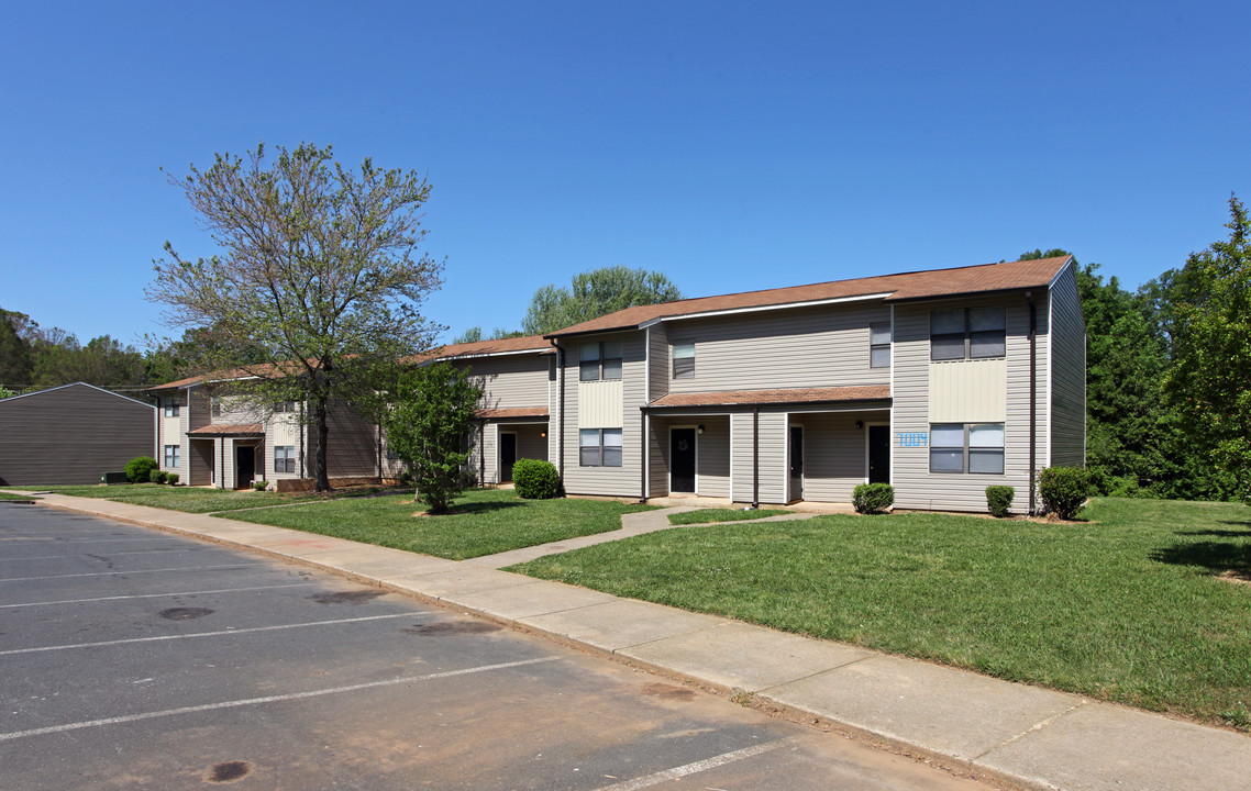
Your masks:
<svg viewBox="0 0 1251 791"><path fill-rule="evenodd" d="M185 174L258 141L428 174L427 314L519 326L608 265L689 296L1066 247L1128 286L1251 199L1251 4L24 2L0 306L164 332Z"/></svg>

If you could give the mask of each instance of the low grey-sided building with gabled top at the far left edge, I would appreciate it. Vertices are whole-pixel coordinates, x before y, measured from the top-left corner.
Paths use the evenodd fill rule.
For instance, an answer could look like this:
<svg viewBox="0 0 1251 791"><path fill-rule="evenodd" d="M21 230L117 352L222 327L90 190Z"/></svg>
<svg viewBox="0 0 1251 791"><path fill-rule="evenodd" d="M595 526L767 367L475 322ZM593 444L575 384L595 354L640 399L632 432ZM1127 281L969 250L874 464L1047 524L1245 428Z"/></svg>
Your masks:
<svg viewBox="0 0 1251 791"><path fill-rule="evenodd" d="M0 485L99 484L155 435L150 404L90 385L0 399Z"/></svg>

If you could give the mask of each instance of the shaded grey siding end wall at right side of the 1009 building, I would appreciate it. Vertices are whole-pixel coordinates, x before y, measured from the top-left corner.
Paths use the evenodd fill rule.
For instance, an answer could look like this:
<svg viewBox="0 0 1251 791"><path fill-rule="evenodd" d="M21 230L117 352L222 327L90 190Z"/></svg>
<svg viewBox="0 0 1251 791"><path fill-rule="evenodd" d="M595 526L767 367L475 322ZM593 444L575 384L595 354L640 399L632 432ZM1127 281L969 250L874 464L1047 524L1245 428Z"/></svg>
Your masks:
<svg viewBox="0 0 1251 791"><path fill-rule="evenodd" d="M1086 321L1070 264L1051 291L1051 465L1086 466Z"/></svg>

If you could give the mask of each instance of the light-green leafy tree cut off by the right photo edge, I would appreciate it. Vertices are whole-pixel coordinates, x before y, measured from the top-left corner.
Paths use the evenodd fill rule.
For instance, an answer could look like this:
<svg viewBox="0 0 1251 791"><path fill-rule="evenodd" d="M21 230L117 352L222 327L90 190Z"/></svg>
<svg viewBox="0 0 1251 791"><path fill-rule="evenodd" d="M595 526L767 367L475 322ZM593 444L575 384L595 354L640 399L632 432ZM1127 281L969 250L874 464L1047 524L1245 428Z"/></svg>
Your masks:
<svg viewBox="0 0 1251 791"><path fill-rule="evenodd" d="M1186 259L1167 392L1185 430L1251 504L1251 220L1230 196L1228 240Z"/></svg>

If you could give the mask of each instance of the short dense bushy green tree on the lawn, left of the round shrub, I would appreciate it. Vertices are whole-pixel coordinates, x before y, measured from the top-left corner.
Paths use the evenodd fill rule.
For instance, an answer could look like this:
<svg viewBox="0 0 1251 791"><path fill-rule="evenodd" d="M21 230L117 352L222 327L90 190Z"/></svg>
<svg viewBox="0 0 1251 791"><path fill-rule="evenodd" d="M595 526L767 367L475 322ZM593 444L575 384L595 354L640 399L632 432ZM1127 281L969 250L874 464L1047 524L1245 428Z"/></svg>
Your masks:
<svg viewBox="0 0 1251 791"><path fill-rule="evenodd" d="M447 514L464 490L463 467L479 399L482 387L469 371L448 362L399 375L385 420L387 447L408 466L417 482L415 497L430 506L430 514Z"/></svg>

